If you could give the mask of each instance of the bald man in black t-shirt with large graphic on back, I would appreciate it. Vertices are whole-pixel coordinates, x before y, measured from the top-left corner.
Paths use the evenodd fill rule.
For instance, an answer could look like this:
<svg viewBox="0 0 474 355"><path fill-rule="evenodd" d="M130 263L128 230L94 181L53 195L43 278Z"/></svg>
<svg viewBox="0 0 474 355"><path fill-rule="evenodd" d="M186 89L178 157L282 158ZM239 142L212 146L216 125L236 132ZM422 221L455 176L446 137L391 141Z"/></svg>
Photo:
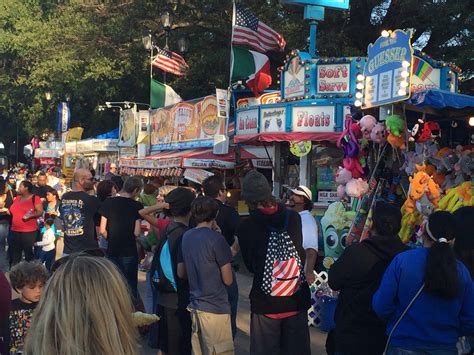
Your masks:
<svg viewBox="0 0 474 355"><path fill-rule="evenodd" d="M63 255L98 248L99 199L87 193L93 188L91 172L78 169L74 173L74 189L63 195L59 207L64 230Z"/></svg>

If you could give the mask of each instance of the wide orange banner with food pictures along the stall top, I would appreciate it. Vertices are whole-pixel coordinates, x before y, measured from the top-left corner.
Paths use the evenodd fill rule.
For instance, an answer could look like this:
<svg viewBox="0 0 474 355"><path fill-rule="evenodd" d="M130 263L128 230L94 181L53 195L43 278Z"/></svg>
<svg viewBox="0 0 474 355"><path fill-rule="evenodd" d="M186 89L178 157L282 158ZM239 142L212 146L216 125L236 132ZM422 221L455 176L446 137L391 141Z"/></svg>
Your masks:
<svg viewBox="0 0 474 355"><path fill-rule="evenodd" d="M217 115L215 96L180 102L151 111L153 150L212 147L216 134L224 134L225 117Z"/></svg>

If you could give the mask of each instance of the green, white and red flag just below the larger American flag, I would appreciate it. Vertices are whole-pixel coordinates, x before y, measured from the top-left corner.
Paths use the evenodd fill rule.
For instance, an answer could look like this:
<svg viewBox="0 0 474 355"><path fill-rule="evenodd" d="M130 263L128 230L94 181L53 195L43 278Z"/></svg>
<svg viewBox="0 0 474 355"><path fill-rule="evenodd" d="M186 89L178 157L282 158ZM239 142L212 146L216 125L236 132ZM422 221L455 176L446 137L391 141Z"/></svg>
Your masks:
<svg viewBox="0 0 474 355"><path fill-rule="evenodd" d="M270 60L265 54L245 48L232 47L231 80L246 80L247 86L260 96L272 83Z"/></svg>

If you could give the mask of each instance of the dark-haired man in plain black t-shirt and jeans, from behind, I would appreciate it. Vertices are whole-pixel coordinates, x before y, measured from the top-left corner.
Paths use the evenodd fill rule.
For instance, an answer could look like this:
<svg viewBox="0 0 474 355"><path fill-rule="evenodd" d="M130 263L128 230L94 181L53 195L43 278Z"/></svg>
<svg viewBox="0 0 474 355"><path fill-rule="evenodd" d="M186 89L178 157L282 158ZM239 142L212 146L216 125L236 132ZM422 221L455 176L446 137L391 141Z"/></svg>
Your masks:
<svg viewBox="0 0 474 355"><path fill-rule="evenodd" d="M100 235L107 239L107 256L122 271L132 295L138 300L138 253L136 238L140 236L140 211L135 201L143 189L143 180L132 176L125 181L120 196L109 197L100 207Z"/></svg>

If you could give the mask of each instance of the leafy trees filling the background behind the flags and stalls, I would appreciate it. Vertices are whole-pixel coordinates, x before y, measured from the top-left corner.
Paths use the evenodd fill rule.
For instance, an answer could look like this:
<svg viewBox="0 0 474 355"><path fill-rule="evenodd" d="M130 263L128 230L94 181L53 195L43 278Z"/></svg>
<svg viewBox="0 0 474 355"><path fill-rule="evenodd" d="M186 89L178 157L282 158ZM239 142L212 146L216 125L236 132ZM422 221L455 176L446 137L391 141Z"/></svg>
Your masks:
<svg viewBox="0 0 474 355"><path fill-rule="evenodd" d="M309 33L303 9L278 0L241 0L267 25L282 33L286 51L306 49ZM118 114L97 110L105 101L149 100L149 54L142 35L150 30L158 46L165 31L160 13L174 14L170 49L190 41L185 77L168 75L184 99L229 84L231 0L8 0L0 4L0 141L10 143L19 126L22 140L55 126L60 101L70 99L71 126L96 135L118 125ZM349 11L326 10L318 25L322 56L365 55L382 29L413 28L413 42L433 58L454 62L470 78L474 71L474 5L466 0L353 0ZM270 53L272 67L286 53ZM276 72L274 73L276 76ZM154 77L162 73L154 70ZM276 78L274 80L276 86ZM45 93L52 99L46 100Z"/></svg>

